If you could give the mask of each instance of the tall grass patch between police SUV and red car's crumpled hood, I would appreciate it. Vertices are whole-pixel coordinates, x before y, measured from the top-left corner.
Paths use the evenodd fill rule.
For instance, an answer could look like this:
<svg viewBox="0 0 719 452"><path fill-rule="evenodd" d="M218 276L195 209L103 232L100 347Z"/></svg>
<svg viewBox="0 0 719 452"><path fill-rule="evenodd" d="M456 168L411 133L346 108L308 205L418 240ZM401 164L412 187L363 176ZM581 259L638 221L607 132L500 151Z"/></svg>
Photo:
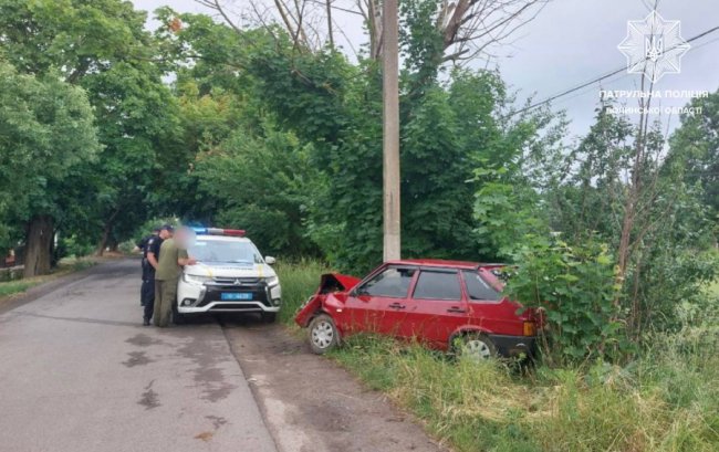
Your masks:
<svg viewBox="0 0 719 452"><path fill-rule="evenodd" d="M319 261L302 260L278 262L275 271L282 284L280 319L290 324L300 306L317 290L320 276L330 269Z"/></svg>

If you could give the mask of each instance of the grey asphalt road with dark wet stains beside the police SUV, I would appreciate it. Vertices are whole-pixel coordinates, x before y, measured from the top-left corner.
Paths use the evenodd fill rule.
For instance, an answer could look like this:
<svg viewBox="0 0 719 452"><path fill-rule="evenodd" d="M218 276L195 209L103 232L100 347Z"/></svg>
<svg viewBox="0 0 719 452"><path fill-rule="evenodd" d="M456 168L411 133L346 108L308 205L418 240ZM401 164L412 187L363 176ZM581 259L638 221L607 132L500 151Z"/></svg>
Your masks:
<svg viewBox="0 0 719 452"><path fill-rule="evenodd" d="M217 323L144 327L116 261L0 313L0 451L277 451Z"/></svg>

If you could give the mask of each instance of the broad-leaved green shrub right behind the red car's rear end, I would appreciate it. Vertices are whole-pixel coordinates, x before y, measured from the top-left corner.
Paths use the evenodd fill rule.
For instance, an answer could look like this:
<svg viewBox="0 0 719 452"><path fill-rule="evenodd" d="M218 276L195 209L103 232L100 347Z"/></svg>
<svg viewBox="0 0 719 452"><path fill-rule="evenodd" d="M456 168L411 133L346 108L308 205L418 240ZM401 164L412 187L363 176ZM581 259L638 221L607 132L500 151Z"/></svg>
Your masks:
<svg viewBox="0 0 719 452"><path fill-rule="evenodd" d="M543 351L550 362L616 357L628 347L616 303L621 287L606 245L570 246L527 235L514 262L506 293L525 307L544 309Z"/></svg>

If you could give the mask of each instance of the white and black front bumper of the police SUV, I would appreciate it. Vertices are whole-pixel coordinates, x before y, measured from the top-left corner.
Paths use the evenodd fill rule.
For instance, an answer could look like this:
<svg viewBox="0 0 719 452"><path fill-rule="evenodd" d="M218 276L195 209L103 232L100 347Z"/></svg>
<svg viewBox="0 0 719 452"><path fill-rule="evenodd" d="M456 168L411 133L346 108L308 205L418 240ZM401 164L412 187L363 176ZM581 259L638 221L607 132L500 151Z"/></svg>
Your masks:
<svg viewBox="0 0 719 452"><path fill-rule="evenodd" d="M251 299L222 299L223 293L250 293ZM264 282L241 285L194 284L180 280L177 286L177 312L202 313L277 313L282 304L280 285Z"/></svg>

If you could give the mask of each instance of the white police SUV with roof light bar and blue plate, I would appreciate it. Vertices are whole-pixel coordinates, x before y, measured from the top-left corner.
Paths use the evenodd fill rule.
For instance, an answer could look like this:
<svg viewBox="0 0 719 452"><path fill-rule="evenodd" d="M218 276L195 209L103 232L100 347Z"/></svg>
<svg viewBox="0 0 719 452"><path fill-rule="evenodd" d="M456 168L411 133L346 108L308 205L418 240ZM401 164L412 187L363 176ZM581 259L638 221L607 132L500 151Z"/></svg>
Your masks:
<svg viewBox="0 0 719 452"><path fill-rule="evenodd" d="M177 285L174 320L204 313L259 313L264 322L277 318L282 288L270 266L244 231L192 228L188 253L197 264L187 265Z"/></svg>

